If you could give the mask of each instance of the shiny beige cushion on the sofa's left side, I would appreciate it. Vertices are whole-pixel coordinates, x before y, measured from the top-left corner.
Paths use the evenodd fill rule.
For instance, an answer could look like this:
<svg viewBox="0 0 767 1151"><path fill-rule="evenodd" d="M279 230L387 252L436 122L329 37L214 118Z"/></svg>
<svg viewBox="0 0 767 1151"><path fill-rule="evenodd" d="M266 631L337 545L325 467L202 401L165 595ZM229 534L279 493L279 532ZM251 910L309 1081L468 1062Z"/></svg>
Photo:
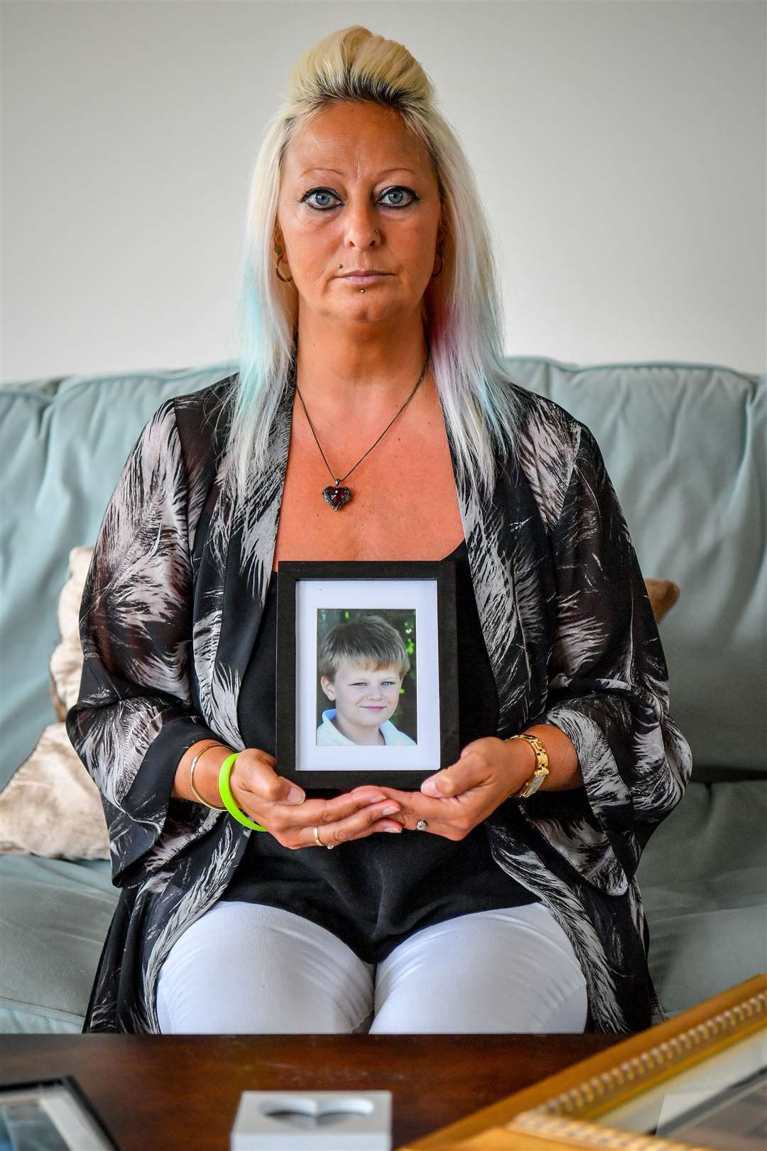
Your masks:
<svg viewBox="0 0 767 1151"><path fill-rule="evenodd" d="M92 547L72 548L59 597L61 642L49 678L57 723L49 724L0 793L0 851L63 859L109 859L99 790L69 742L64 717L83 672L78 616Z"/></svg>

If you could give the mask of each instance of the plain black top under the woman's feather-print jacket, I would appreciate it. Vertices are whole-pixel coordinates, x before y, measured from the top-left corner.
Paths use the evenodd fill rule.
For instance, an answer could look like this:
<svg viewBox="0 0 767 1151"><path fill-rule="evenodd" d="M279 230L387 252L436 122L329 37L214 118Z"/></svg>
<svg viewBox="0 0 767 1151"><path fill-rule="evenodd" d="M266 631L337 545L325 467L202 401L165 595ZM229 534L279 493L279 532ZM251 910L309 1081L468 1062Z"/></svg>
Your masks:
<svg viewBox="0 0 767 1151"><path fill-rule="evenodd" d="M466 541L455 561L459 734L463 747L494 734L498 693L477 613ZM246 747L275 754L277 572L273 572L256 645L239 695ZM279 768L277 767L277 770ZM307 798L338 790L305 788ZM492 907L537 902L494 862L484 823L462 840L429 831L374 832L332 852L291 851L252 831L221 899L284 907L332 931L368 963L385 959L413 931Z"/></svg>

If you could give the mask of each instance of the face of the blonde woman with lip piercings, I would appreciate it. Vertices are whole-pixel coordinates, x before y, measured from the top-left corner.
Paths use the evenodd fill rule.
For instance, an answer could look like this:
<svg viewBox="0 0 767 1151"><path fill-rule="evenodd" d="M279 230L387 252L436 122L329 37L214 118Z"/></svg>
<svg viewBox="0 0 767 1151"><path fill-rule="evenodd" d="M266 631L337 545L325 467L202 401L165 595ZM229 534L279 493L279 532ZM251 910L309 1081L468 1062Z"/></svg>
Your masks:
<svg viewBox="0 0 767 1151"><path fill-rule="evenodd" d="M439 267L439 222L431 159L392 109L331 105L291 140L276 236L301 308L367 322L420 312ZM344 279L354 268L385 275Z"/></svg>

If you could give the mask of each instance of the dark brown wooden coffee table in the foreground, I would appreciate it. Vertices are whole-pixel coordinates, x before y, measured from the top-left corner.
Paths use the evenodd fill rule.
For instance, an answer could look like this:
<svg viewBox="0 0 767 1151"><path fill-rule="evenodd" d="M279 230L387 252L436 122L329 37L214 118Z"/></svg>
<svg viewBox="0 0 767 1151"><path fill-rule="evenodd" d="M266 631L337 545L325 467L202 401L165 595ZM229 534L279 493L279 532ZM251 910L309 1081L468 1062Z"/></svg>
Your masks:
<svg viewBox="0 0 767 1151"><path fill-rule="evenodd" d="M392 1148L626 1035L3 1035L0 1077L74 1075L123 1151L229 1151L243 1091L392 1093Z"/></svg>

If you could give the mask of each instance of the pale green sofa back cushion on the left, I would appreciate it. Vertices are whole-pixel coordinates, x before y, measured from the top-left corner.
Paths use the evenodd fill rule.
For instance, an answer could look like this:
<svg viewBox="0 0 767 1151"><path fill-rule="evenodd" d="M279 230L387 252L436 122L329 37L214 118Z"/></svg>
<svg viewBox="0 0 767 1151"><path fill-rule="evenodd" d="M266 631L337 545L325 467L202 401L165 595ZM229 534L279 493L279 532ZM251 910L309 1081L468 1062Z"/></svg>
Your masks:
<svg viewBox="0 0 767 1151"><path fill-rule="evenodd" d="M55 712L48 661L70 550L95 542L144 425L170 396L207 388L233 364L67 376L0 387L0 787Z"/></svg>

